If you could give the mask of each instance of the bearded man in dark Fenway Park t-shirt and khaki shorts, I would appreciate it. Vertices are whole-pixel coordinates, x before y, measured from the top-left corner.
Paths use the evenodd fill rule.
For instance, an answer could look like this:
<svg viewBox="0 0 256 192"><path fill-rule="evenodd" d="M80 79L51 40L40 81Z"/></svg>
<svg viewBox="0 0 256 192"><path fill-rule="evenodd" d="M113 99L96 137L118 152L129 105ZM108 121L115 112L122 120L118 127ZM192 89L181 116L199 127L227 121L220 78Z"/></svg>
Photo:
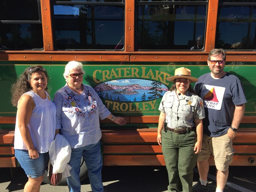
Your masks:
<svg viewBox="0 0 256 192"><path fill-rule="evenodd" d="M207 175L209 157L214 157L217 169L216 192L223 192L228 179L228 166L233 160L232 139L243 118L247 102L241 81L225 72L226 52L213 49L207 60L210 73L198 78L195 91L204 100L206 118L203 120L202 152L197 159L199 181L193 192L209 192Z"/></svg>

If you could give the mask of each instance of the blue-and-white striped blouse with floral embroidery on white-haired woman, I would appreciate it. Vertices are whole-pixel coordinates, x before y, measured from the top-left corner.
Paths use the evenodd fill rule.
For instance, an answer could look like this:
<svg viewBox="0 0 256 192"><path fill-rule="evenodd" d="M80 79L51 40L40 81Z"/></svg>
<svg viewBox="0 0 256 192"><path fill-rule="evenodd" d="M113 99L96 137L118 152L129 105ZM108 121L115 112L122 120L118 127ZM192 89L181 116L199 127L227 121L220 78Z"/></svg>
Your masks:
<svg viewBox="0 0 256 192"><path fill-rule="evenodd" d="M83 92L77 94L66 84L55 93L53 100L57 108L56 129L61 129L71 148L97 143L101 138L100 119L111 114L95 90L82 85Z"/></svg>

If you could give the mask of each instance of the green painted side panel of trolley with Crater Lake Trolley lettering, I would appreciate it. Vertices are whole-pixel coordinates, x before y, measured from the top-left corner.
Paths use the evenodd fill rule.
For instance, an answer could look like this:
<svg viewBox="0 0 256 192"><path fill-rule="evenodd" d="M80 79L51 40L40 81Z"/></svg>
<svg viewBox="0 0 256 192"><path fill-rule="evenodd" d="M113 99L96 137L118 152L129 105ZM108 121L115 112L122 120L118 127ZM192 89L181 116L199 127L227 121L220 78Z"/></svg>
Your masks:
<svg viewBox="0 0 256 192"><path fill-rule="evenodd" d="M172 85L166 80L174 70L184 66L191 69L192 76L199 77L210 72L207 65L190 62L82 62L85 70L83 83L91 85L103 103L114 114L159 115L158 107L161 97ZM42 65L50 77L48 90L51 97L66 83L63 72L67 62L0 62L0 115L15 116L16 107L11 105L11 84L31 65ZM199 64L199 65L198 65ZM236 75L243 83L248 103L245 115L256 113L256 66L247 62L243 65L232 65L227 62L225 71ZM194 83L192 84L194 85Z"/></svg>

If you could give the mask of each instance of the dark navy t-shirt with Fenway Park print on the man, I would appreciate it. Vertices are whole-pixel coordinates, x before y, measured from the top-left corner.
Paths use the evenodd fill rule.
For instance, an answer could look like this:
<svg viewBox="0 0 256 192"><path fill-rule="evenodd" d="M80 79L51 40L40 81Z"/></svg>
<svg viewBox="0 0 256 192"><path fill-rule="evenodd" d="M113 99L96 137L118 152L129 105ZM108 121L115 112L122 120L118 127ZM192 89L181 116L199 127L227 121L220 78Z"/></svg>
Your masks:
<svg viewBox="0 0 256 192"><path fill-rule="evenodd" d="M220 79L213 79L210 73L200 76L195 91L204 100L204 133L210 137L226 134L235 105L247 102L241 81L230 73Z"/></svg>

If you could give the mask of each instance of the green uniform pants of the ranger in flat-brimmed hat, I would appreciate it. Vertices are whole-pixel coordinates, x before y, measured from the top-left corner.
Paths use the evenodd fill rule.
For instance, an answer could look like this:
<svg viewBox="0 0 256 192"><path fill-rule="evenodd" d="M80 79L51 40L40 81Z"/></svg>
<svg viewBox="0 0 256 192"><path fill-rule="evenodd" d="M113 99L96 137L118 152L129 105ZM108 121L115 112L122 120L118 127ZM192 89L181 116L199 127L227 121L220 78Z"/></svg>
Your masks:
<svg viewBox="0 0 256 192"><path fill-rule="evenodd" d="M191 192L193 185L193 168L197 162L194 147L197 134L189 131L176 134L163 131L162 151L169 177L168 192Z"/></svg>

